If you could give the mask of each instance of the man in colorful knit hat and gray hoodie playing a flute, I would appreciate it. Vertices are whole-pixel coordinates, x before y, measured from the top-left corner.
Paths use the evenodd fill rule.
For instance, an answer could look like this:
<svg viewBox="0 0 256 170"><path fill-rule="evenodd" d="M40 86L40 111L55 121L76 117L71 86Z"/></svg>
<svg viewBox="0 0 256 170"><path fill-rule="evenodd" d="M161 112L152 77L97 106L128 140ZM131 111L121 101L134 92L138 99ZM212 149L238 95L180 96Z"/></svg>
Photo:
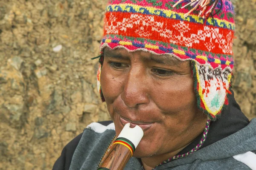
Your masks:
<svg viewBox="0 0 256 170"><path fill-rule="evenodd" d="M126 123L143 139L125 170L256 168L256 119L231 90L229 0L110 0L98 72L112 122L92 123L53 169L96 170Z"/></svg>

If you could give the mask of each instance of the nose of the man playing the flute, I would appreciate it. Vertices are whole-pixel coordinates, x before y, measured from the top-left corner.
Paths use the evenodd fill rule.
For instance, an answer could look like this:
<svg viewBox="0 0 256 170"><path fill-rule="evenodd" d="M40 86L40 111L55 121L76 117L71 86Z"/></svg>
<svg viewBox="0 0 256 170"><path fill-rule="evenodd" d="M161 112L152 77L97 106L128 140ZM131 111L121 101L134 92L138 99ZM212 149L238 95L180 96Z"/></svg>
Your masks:
<svg viewBox="0 0 256 170"><path fill-rule="evenodd" d="M149 102L146 82L145 70L140 68L130 69L121 94L121 99L126 106L134 108Z"/></svg>

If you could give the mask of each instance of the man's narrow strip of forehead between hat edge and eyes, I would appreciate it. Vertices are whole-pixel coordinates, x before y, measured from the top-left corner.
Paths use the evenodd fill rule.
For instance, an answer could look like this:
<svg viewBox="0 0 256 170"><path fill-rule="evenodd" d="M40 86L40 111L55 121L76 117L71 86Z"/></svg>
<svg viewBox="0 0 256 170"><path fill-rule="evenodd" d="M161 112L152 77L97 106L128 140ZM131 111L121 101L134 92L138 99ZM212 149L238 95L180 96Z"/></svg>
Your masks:
<svg viewBox="0 0 256 170"><path fill-rule="evenodd" d="M168 64L168 65L177 65L182 63L183 61L177 59L171 54L152 54L148 51L138 50L138 51L128 51L125 48L104 48L103 54L106 57L114 57L114 58L122 58L128 59L129 56L133 56L134 54L143 57L145 60L153 60L157 63Z"/></svg>

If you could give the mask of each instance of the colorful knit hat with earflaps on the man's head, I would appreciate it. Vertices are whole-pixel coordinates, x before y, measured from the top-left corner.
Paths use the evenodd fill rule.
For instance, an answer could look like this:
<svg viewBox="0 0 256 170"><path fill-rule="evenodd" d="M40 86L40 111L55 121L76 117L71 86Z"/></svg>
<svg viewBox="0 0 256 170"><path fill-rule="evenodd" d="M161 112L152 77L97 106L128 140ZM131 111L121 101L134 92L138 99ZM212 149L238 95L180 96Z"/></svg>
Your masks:
<svg viewBox="0 0 256 170"><path fill-rule="evenodd" d="M198 108L216 120L228 104L234 29L230 0L110 0L100 50L125 48L191 60ZM99 82L100 71L101 66ZM99 91L104 101L100 83Z"/></svg>

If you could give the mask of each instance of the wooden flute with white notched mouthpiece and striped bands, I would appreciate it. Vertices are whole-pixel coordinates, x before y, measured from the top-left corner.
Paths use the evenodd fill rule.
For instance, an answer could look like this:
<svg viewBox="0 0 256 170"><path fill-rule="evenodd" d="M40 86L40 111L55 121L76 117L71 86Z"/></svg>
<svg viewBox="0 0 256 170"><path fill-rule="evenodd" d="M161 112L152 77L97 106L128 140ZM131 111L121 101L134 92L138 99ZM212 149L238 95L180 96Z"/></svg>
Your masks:
<svg viewBox="0 0 256 170"><path fill-rule="evenodd" d="M130 127L127 123L111 148L105 153L97 170L123 170L144 133L140 126Z"/></svg>

